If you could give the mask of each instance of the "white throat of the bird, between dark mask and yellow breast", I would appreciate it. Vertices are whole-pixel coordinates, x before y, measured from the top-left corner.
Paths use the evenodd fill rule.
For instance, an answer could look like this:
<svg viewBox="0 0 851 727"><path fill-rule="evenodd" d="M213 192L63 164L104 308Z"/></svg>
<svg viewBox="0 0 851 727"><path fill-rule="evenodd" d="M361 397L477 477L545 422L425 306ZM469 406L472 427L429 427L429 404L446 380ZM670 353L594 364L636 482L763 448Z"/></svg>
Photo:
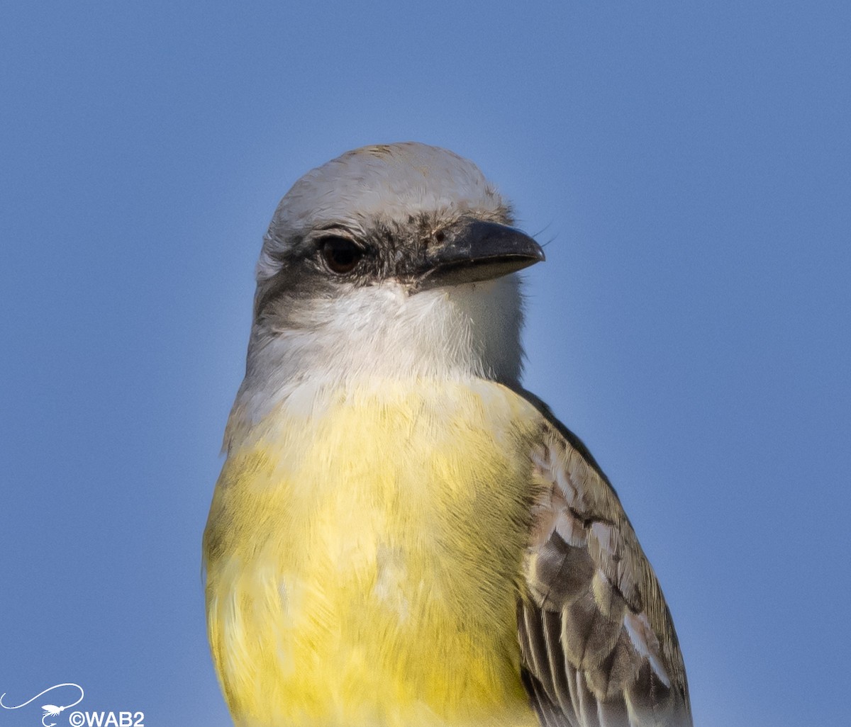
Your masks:
<svg viewBox="0 0 851 727"><path fill-rule="evenodd" d="M517 383L521 302L517 275L413 295L386 282L334 298L291 299L282 320L254 325L228 429L251 426L288 400L302 407L306 397L352 383Z"/></svg>

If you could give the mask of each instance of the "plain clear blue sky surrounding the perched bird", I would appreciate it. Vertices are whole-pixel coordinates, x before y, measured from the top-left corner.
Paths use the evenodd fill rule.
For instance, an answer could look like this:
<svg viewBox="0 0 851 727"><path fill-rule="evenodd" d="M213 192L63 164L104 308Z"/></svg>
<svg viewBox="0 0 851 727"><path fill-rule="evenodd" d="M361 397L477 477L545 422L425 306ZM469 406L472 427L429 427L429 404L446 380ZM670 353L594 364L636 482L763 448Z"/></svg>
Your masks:
<svg viewBox="0 0 851 727"><path fill-rule="evenodd" d="M550 241L525 381L619 491L696 723L847 724L849 37L845 2L5 3L7 703L229 724L200 539L260 238L414 139Z"/></svg>

